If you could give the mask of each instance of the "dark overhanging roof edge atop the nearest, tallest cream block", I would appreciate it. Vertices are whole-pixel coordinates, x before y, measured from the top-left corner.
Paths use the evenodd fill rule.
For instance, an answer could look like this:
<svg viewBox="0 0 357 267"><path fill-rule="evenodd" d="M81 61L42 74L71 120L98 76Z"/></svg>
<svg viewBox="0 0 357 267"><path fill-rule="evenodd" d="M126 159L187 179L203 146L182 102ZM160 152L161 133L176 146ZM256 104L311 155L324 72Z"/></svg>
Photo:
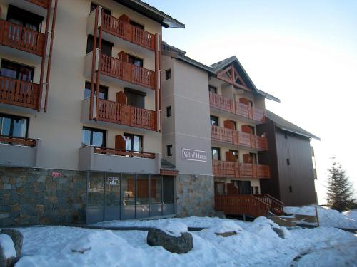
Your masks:
<svg viewBox="0 0 357 267"><path fill-rule="evenodd" d="M150 6L141 0L115 0L119 4L129 7L144 16L161 23L165 28L185 28L185 24L181 23L172 16L165 14L163 11Z"/></svg>

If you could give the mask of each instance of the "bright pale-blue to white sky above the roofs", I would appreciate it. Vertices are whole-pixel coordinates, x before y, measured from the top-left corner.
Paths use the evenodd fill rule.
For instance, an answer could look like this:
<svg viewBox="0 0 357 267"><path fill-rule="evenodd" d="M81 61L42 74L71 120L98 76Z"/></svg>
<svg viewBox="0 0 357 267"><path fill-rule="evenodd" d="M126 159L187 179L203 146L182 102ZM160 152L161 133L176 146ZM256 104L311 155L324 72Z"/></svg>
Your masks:
<svg viewBox="0 0 357 267"><path fill-rule="evenodd" d="M320 204L326 169L341 162L357 192L357 1L146 0L186 24L163 39L210 65L236 55L266 108L317 135Z"/></svg>

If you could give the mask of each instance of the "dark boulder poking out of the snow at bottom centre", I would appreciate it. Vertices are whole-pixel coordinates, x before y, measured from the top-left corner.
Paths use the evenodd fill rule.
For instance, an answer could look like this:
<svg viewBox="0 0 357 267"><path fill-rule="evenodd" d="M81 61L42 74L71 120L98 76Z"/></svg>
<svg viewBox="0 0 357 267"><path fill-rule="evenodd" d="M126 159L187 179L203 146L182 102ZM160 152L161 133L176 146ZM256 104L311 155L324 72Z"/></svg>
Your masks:
<svg viewBox="0 0 357 267"><path fill-rule="evenodd" d="M150 246L162 246L172 253L188 253L193 248L192 235L188 232L181 236L170 236L160 229L150 229L146 238Z"/></svg>

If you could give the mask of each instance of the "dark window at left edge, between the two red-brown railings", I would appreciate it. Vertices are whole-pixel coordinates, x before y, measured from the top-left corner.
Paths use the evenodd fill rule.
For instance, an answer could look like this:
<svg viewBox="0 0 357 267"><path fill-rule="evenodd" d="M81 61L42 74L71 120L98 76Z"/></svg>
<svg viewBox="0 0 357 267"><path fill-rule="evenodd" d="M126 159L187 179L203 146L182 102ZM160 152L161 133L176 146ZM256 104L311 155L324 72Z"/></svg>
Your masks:
<svg viewBox="0 0 357 267"><path fill-rule="evenodd" d="M25 80L26 82L32 82L34 80L34 68L2 60L0 75L17 80Z"/></svg>

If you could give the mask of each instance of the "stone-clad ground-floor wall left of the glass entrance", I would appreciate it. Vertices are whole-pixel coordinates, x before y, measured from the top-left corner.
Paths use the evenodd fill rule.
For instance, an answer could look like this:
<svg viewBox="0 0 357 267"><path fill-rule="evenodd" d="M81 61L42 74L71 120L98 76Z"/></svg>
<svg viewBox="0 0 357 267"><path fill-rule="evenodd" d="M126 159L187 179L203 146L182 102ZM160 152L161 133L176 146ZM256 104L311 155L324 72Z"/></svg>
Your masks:
<svg viewBox="0 0 357 267"><path fill-rule="evenodd" d="M85 208L86 172L0 167L0 226L84 223Z"/></svg>

